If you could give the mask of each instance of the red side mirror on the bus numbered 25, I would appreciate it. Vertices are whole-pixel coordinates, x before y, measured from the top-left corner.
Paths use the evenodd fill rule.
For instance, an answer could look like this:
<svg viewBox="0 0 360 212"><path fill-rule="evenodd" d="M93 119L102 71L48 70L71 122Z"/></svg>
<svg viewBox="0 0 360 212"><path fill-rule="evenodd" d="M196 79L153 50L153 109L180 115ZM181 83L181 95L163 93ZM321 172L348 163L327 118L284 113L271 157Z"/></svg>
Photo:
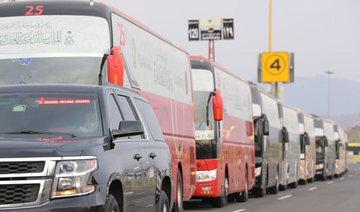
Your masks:
<svg viewBox="0 0 360 212"><path fill-rule="evenodd" d="M108 81L109 83L124 85L124 57L120 55L120 46L111 49L112 55L108 56Z"/></svg>

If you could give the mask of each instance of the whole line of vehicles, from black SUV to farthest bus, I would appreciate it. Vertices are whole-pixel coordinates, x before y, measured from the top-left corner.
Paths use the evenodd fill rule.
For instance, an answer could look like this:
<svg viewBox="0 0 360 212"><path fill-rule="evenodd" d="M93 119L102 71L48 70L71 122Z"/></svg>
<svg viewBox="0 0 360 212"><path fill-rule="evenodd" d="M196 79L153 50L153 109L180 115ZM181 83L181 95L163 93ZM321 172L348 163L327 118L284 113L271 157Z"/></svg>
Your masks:
<svg viewBox="0 0 360 212"><path fill-rule="evenodd" d="M93 1L0 4L0 211L183 211L346 173L347 136Z"/></svg>

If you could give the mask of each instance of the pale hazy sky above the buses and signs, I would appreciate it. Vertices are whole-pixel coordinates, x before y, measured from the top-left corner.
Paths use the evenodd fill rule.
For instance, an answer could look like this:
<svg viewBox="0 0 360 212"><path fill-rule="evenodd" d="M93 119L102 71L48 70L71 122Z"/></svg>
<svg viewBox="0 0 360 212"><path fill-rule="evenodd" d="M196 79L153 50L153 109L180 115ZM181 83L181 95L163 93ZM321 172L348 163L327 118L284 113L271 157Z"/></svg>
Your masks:
<svg viewBox="0 0 360 212"><path fill-rule="evenodd" d="M208 43L188 41L189 19L234 18L235 40L216 41L216 62L247 79L256 79L258 53L268 50L268 0L102 1L192 55L207 56ZM360 82L359 0L273 0L273 13L273 51L295 52L296 76L331 69Z"/></svg>

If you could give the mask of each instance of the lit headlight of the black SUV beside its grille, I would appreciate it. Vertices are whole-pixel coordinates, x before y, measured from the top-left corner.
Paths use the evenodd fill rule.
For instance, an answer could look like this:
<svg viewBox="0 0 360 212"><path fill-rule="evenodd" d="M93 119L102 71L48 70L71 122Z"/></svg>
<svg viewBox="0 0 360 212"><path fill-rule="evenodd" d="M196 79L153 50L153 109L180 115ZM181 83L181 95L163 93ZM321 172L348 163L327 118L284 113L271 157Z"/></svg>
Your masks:
<svg viewBox="0 0 360 212"><path fill-rule="evenodd" d="M56 164L52 197L80 196L92 193L91 174L97 169L96 159L63 160Z"/></svg>

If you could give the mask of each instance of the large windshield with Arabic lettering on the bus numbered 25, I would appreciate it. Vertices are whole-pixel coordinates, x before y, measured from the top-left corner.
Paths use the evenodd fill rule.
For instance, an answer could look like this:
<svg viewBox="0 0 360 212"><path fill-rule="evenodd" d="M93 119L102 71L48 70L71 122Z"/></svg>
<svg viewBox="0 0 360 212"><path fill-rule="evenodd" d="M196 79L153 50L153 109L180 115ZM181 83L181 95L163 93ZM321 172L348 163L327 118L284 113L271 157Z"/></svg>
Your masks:
<svg viewBox="0 0 360 212"><path fill-rule="evenodd" d="M109 51L109 25L100 17L0 18L0 85L98 84Z"/></svg>

